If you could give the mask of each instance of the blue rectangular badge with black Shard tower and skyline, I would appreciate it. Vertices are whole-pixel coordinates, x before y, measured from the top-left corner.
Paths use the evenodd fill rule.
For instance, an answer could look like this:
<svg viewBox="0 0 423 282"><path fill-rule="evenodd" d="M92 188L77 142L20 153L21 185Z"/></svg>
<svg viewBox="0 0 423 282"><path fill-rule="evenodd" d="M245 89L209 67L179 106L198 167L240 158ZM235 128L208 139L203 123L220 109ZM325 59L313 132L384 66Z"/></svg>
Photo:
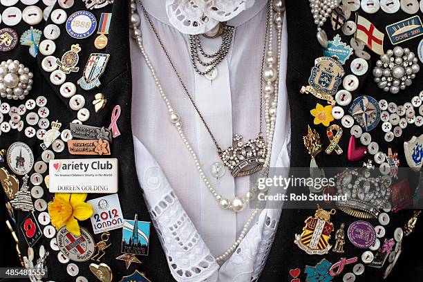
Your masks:
<svg viewBox="0 0 423 282"><path fill-rule="evenodd" d="M150 244L150 223L138 221L138 214L134 220L124 220L122 232L122 252L125 254L140 254L148 256Z"/></svg>

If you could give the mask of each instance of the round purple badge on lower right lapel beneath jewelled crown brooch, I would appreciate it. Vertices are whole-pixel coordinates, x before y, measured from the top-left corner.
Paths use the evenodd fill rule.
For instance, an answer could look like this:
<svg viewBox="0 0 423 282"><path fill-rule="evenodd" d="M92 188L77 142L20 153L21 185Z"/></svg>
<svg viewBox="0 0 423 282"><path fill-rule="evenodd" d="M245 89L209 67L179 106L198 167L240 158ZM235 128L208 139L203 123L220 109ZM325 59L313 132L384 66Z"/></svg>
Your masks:
<svg viewBox="0 0 423 282"><path fill-rule="evenodd" d="M366 221L355 221L355 223L352 223L350 227L348 227L348 238L355 247L366 249L375 243L375 228Z"/></svg>

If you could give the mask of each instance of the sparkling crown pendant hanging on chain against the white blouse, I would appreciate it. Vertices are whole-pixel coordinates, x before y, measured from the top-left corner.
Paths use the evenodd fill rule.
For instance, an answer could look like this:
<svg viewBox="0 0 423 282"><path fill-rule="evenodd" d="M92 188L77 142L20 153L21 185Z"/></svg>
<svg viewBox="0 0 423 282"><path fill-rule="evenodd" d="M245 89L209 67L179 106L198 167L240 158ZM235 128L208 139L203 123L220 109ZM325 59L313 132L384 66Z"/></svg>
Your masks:
<svg viewBox="0 0 423 282"><path fill-rule="evenodd" d="M249 176L263 168L267 156L267 148L263 136L250 139L245 144L242 135L235 134L233 146L222 151L218 149L220 159L232 173L232 176Z"/></svg>

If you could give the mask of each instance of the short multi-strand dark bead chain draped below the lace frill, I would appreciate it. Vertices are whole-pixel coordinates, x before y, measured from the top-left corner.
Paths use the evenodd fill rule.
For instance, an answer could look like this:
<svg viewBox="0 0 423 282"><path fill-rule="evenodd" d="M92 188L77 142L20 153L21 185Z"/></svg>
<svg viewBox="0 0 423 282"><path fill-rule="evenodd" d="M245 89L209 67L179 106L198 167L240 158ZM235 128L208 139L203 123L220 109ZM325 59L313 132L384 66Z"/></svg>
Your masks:
<svg viewBox="0 0 423 282"><path fill-rule="evenodd" d="M222 27L220 28L220 26ZM214 54L205 53L205 50L201 45L200 35L189 35L189 54L191 55L191 64L199 75L207 75L208 73L211 73L214 68L216 68L216 66L220 64L223 59L225 59L227 53L229 52L229 48L231 48L234 27L227 26L224 23L219 23L219 30L221 31L218 31L218 34L214 36L203 35L209 38L215 38L218 36L222 37L222 44L220 44L219 50ZM198 56L198 51L200 51L203 57L212 60L209 62L203 62L203 60L201 60ZM200 71L196 62L202 66L205 66L205 71Z"/></svg>

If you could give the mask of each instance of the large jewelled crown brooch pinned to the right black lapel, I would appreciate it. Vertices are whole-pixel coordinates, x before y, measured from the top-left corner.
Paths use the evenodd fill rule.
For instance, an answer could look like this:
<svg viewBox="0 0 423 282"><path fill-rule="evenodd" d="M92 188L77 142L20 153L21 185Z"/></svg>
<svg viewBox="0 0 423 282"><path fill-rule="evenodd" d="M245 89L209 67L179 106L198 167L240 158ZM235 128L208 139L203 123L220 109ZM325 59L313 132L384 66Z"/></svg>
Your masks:
<svg viewBox="0 0 423 282"><path fill-rule="evenodd" d="M379 209L386 207L391 196L389 187L391 176L371 177L375 166L369 160L364 169L345 169L336 178L338 195L346 195L346 200L338 200L341 211L357 218L376 218Z"/></svg>

